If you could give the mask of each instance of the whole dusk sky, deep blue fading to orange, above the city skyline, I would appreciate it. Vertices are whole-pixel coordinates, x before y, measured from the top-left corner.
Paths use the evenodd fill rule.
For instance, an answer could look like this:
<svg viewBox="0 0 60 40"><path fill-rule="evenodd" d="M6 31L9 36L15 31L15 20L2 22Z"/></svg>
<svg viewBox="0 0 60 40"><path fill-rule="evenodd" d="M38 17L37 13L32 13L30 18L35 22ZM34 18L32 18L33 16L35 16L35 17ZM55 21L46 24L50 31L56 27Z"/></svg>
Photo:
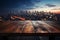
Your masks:
<svg viewBox="0 0 60 40"><path fill-rule="evenodd" d="M60 0L0 0L0 14L8 10L60 11Z"/></svg>

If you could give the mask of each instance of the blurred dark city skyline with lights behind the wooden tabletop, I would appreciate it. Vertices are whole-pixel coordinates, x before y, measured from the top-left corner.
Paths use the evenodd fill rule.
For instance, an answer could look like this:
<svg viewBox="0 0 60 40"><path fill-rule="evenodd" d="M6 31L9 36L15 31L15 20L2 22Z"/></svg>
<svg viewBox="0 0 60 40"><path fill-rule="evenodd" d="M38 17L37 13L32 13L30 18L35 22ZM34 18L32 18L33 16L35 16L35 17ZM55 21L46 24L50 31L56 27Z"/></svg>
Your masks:
<svg viewBox="0 0 60 40"><path fill-rule="evenodd" d="M0 16L1 20L42 20L42 21L60 21L60 14L53 12L38 11L10 11L7 15Z"/></svg>

